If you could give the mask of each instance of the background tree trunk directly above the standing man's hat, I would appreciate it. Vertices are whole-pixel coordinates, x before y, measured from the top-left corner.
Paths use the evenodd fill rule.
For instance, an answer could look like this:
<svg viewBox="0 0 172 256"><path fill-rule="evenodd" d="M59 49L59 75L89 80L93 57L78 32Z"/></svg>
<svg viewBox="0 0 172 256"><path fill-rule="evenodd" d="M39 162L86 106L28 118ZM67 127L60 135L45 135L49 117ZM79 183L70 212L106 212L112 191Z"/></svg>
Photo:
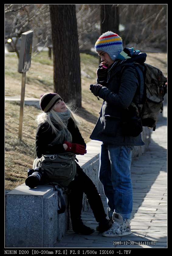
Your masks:
<svg viewBox="0 0 172 256"><path fill-rule="evenodd" d="M100 5L100 32L119 34L119 5Z"/></svg>

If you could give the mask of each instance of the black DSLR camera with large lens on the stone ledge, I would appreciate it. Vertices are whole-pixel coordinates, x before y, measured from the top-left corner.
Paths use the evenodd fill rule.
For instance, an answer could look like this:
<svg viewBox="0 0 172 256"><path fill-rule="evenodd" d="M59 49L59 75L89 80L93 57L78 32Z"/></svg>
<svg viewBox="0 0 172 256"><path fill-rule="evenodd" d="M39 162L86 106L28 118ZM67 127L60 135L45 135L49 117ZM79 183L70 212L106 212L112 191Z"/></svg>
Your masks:
<svg viewBox="0 0 172 256"><path fill-rule="evenodd" d="M26 186L33 189L40 185L41 181L44 178L44 171L40 167L36 167L35 169L28 169L27 171L27 178L25 180Z"/></svg>

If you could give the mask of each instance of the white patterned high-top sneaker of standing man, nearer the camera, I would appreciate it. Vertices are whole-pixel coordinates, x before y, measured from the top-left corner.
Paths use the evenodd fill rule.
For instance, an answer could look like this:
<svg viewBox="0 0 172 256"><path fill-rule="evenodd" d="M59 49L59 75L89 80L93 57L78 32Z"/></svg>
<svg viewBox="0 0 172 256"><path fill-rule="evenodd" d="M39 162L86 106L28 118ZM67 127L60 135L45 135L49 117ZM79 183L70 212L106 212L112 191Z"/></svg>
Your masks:
<svg viewBox="0 0 172 256"><path fill-rule="evenodd" d="M127 236L131 234L131 227L129 219L122 218L118 213L113 214L114 222L112 227L105 231L102 236L115 237L115 236Z"/></svg>

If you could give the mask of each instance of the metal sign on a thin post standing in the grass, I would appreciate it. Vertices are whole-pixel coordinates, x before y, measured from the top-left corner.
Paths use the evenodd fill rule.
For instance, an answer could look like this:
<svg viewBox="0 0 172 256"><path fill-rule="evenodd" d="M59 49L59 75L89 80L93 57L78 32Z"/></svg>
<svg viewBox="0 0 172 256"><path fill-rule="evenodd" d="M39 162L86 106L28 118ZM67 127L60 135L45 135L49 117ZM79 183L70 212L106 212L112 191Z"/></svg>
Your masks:
<svg viewBox="0 0 172 256"><path fill-rule="evenodd" d="M22 33L20 54L19 54L19 65L18 65L18 72L22 73L22 88L21 88L20 116L19 116L19 135L18 135L18 138L20 140L22 140L26 71L28 71L31 66L32 41L33 41L33 31L30 30L25 33Z"/></svg>

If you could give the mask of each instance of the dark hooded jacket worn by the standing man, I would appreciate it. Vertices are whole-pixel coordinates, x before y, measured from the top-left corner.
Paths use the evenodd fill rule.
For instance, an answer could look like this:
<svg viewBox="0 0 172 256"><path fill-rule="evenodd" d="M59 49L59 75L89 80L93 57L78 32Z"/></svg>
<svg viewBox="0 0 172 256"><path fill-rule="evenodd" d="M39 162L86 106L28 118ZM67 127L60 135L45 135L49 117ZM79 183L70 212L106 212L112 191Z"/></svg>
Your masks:
<svg viewBox="0 0 172 256"><path fill-rule="evenodd" d="M126 66L121 73L122 67L126 64L132 65L133 62L136 62L139 68L144 70L144 67L139 65L139 63L144 62L143 59L146 59L145 55L144 53L139 54L134 58L127 59L123 65L121 64L113 68L110 71L108 82L102 83L103 87L100 89L98 96L104 99L104 101L101 107L100 117L90 135L90 139L114 145L145 145L141 139L141 134L137 137L131 137L124 136L121 132L123 110L130 106L139 86L136 70L133 67ZM143 73L140 73L143 86Z"/></svg>

